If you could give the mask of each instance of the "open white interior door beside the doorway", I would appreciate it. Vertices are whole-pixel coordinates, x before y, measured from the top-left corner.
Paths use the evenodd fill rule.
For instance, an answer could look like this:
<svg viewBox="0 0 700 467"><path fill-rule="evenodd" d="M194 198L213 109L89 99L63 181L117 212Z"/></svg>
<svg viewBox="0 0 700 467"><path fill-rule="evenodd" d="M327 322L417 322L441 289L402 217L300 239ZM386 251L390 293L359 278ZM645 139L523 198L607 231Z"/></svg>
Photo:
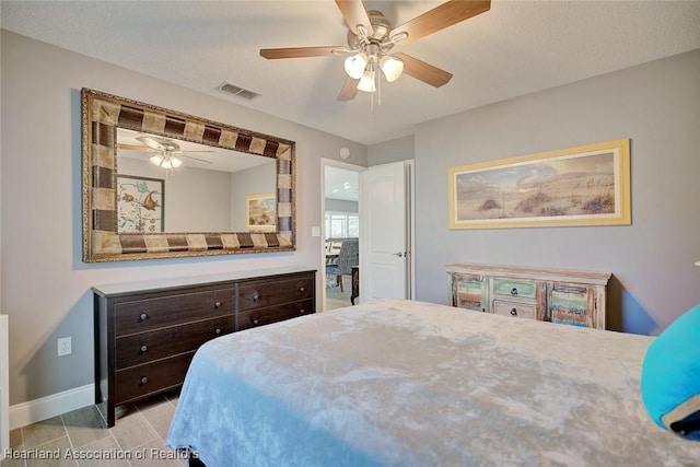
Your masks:
<svg viewBox="0 0 700 467"><path fill-rule="evenodd" d="M411 297L410 162L361 174L360 301Z"/></svg>

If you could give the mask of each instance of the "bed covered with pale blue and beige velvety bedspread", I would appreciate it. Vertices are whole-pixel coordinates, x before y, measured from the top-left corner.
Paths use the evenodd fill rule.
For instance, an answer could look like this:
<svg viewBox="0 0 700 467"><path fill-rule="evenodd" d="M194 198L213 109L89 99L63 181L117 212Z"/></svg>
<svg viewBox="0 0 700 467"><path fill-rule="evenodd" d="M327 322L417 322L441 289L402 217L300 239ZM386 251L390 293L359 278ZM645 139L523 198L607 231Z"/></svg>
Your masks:
<svg viewBox="0 0 700 467"><path fill-rule="evenodd" d="M700 465L640 400L653 338L388 300L217 338L166 443L218 466Z"/></svg>

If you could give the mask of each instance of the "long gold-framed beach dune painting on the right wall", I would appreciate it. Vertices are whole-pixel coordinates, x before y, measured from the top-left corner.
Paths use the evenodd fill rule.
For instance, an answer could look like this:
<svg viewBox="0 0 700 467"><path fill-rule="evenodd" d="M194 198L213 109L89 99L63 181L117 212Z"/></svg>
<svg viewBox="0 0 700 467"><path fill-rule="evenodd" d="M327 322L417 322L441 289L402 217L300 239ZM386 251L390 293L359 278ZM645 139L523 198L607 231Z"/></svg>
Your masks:
<svg viewBox="0 0 700 467"><path fill-rule="evenodd" d="M625 225L630 140L450 167L450 229Z"/></svg>

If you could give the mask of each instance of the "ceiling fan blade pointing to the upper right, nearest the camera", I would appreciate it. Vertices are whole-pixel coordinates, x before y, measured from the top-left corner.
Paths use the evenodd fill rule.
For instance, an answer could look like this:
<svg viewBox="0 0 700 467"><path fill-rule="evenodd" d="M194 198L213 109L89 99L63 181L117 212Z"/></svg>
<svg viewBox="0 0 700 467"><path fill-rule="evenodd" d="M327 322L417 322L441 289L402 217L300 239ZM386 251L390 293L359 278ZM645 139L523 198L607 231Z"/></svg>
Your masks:
<svg viewBox="0 0 700 467"><path fill-rule="evenodd" d="M468 20L485 11L489 11L490 8L491 0L450 0L395 27L389 33L389 37L406 33L408 37L400 39L399 44L408 44L440 30L444 30L445 27L450 27L453 24Z"/></svg>

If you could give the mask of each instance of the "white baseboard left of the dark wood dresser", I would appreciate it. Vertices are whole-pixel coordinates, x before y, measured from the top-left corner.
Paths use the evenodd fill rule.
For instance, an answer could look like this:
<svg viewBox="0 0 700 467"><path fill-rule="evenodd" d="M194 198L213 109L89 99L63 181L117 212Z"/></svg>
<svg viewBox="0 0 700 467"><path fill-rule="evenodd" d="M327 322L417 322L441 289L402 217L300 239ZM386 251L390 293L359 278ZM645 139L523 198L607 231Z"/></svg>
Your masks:
<svg viewBox="0 0 700 467"><path fill-rule="evenodd" d="M88 384L10 407L10 430L95 404L95 385Z"/></svg>

